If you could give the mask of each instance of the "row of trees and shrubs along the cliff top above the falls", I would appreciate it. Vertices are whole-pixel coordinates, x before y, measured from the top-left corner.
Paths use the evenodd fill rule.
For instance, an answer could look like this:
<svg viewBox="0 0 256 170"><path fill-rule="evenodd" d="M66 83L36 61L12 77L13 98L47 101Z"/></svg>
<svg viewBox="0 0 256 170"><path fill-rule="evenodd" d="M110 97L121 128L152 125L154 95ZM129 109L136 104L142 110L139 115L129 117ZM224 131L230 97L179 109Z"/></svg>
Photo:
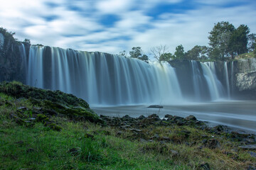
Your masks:
<svg viewBox="0 0 256 170"><path fill-rule="evenodd" d="M232 23L221 21L216 23L209 33L209 46L195 45L191 50L185 52L183 45L178 45L174 54L171 54L167 45L159 45L151 48L151 55L159 62L169 60L200 60L202 62L234 60L235 56L247 52L255 54L256 34L249 33L250 28L246 25L242 24L235 28ZM132 51L129 52L131 57L134 57L134 54L138 54L138 49L141 53L141 47L132 47ZM126 56L126 52L122 51L120 55ZM253 56L255 57L255 55ZM142 58L139 59L144 60Z"/></svg>

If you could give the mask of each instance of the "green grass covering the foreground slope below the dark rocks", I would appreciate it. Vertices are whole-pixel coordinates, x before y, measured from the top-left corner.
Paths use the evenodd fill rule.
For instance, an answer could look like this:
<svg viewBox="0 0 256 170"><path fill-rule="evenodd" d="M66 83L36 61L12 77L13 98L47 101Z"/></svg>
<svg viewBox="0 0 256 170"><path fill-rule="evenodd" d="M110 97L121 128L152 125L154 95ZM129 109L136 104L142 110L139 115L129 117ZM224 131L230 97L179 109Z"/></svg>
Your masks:
<svg viewBox="0 0 256 170"><path fill-rule="evenodd" d="M205 163L210 169L247 169L256 162L232 134L167 122L149 123L137 133L35 113L37 107L29 98L0 93L0 169L198 169ZM153 142L140 141L156 134ZM207 147L206 139L218 140L220 147Z"/></svg>

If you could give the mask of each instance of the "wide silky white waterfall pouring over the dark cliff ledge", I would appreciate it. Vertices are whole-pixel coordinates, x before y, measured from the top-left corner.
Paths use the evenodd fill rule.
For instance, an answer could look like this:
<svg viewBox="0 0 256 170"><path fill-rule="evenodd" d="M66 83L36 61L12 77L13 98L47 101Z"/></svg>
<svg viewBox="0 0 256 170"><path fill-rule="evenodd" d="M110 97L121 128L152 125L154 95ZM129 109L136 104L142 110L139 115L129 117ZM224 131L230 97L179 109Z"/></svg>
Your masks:
<svg viewBox="0 0 256 170"><path fill-rule="evenodd" d="M167 62L146 63L102 52L31 46L24 60L26 84L74 94L95 106L214 101L229 93L216 76L214 62L191 61L191 74L183 77L192 81L182 84ZM190 93L184 93L188 86Z"/></svg>

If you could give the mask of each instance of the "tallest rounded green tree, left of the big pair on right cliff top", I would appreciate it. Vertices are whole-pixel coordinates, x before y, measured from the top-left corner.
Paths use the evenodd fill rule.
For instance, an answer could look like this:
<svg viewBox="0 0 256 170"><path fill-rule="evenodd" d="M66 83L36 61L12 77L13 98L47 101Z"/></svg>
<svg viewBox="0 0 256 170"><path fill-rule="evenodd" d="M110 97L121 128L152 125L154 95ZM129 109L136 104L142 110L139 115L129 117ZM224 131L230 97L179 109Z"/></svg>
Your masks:
<svg viewBox="0 0 256 170"><path fill-rule="evenodd" d="M230 37L233 34L235 27L229 22L218 22L210 31L209 45L211 51L214 53L215 57L224 58L230 55ZM217 53L219 52L219 54Z"/></svg>

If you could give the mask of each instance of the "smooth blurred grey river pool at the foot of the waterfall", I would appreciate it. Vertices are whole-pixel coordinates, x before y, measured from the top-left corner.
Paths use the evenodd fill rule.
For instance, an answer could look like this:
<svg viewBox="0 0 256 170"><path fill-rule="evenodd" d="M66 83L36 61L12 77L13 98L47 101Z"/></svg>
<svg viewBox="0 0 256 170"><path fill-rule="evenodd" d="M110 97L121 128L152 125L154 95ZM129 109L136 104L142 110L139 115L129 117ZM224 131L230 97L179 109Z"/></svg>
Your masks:
<svg viewBox="0 0 256 170"><path fill-rule="evenodd" d="M156 113L160 118L164 115L186 117L194 115L198 120L206 121L209 126L227 125L244 132L256 134L256 101L216 101L209 103L186 103L183 105L164 106L164 108L147 108L139 106L92 107L98 115L122 117L129 115L137 118L139 115Z"/></svg>

